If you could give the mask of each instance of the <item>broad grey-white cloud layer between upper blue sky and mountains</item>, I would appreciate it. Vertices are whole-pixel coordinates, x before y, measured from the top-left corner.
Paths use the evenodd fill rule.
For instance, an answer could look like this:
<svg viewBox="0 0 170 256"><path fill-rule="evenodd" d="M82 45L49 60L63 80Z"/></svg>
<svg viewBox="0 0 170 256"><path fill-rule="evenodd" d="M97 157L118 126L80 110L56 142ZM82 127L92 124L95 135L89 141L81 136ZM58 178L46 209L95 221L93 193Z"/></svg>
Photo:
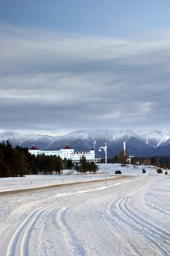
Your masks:
<svg viewBox="0 0 170 256"><path fill-rule="evenodd" d="M0 75L36 101L0 79L24 100L0 87L3 130L169 128L170 38L130 41L4 24L0 32Z"/></svg>

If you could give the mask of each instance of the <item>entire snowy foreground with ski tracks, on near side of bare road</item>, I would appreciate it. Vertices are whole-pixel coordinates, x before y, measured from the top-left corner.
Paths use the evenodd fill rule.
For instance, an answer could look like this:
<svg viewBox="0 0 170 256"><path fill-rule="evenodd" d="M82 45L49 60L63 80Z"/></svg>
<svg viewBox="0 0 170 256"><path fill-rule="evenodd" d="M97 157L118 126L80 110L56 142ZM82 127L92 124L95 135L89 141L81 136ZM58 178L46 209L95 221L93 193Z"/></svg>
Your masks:
<svg viewBox="0 0 170 256"><path fill-rule="evenodd" d="M170 177L0 198L1 256L170 255Z"/></svg>

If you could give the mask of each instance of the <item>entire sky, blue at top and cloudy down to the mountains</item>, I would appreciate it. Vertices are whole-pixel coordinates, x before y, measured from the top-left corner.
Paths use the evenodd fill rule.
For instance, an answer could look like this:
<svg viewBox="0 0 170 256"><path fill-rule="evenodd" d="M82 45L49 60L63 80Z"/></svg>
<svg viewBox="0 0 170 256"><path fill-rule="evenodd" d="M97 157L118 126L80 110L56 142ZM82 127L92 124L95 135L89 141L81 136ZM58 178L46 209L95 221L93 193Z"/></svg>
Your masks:
<svg viewBox="0 0 170 256"><path fill-rule="evenodd" d="M169 129L169 0L2 0L0 132Z"/></svg>

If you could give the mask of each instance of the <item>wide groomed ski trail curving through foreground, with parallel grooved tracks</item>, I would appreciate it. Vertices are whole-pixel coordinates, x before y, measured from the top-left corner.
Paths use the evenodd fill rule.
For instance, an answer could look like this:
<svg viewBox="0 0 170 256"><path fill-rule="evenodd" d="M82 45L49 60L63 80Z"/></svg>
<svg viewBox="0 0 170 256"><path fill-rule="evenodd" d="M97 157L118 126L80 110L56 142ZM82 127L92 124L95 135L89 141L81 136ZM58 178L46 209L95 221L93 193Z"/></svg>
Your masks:
<svg viewBox="0 0 170 256"><path fill-rule="evenodd" d="M112 183L33 210L11 237L6 256L170 256L168 229L138 207L151 182L154 187L152 177ZM166 212L147 195L145 200Z"/></svg>

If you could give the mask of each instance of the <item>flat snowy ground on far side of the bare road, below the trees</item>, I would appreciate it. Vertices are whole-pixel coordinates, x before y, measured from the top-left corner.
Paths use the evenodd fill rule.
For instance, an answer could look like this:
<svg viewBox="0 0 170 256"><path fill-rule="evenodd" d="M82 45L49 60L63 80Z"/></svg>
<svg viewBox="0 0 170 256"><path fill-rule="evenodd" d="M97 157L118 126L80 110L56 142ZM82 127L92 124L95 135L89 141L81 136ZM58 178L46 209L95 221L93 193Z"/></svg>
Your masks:
<svg viewBox="0 0 170 256"><path fill-rule="evenodd" d="M130 168L129 166L121 167L119 163L116 164L108 164L108 178L109 177L119 177L121 175L115 175L116 170L120 170L122 175L130 175ZM77 181L88 181L88 180L97 180L100 178L105 178L105 163L99 164L99 171L98 174L94 175L89 173L88 175L77 175L77 172L74 172L72 175L66 175L68 170L64 170L62 175L26 175L26 177L10 177L10 178L0 178L0 191L7 191L13 189L23 189L23 188L32 188L37 186L44 186L44 185L52 185L58 183L70 183L70 182L77 182ZM131 168L131 175L137 176L140 172L142 175L141 166L139 169ZM150 168L146 168L146 175L155 174L156 169L153 166ZM160 175L160 174L159 174ZM163 174L164 175L164 172Z"/></svg>

